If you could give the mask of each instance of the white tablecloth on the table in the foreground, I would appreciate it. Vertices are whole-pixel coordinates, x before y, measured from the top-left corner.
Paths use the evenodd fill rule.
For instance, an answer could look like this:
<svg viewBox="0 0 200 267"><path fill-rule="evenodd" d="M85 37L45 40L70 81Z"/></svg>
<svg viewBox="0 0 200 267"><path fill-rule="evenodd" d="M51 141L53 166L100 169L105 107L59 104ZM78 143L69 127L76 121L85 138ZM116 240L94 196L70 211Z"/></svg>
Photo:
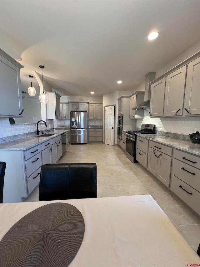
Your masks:
<svg viewBox="0 0 200 267"><path fill-rule="evenodd" d="M27 213L53 202L74 205L85 221L83 243L70 267L200 264L150 195L0 204L0 240Z"/></svg>

